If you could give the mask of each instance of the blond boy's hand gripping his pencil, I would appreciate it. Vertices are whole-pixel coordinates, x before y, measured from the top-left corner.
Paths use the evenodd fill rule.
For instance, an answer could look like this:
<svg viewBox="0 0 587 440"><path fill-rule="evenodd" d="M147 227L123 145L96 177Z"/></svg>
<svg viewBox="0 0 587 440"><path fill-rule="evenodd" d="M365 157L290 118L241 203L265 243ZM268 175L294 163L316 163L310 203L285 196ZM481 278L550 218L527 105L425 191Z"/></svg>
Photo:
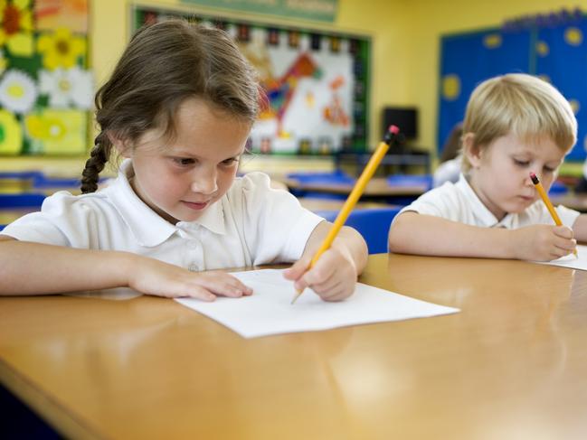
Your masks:
<svg viewBox="0 0 587 440"><path fill-rule="evenodd" d="M573 252L577 240L573 230L566 226L533 225L514 229L513 240L516 258L534 261L551 261Z"/></svg>

